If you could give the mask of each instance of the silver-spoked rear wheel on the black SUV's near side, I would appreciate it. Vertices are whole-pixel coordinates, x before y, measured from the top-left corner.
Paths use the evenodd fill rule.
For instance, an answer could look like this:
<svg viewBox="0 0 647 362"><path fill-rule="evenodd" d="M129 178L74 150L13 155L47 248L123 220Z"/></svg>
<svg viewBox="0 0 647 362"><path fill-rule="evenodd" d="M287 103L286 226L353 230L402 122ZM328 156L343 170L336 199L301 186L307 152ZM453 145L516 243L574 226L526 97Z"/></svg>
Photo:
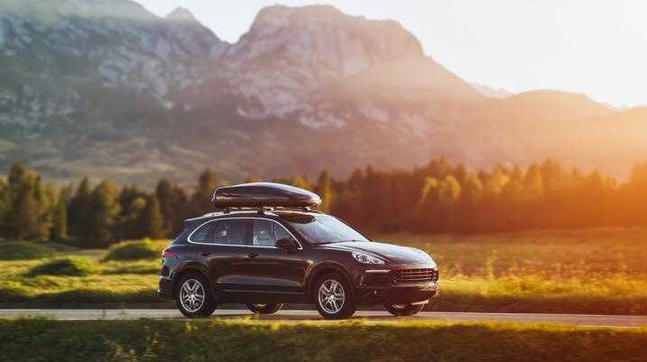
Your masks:
<svg viewBox="0 0 647 362"><path fill-rule="evenodd" d="M178 281L175 303L178 310L189 318L208 317L216 310L213 292L201 274L184 274ZM199 300L201 296L201 301Z"/></svg>

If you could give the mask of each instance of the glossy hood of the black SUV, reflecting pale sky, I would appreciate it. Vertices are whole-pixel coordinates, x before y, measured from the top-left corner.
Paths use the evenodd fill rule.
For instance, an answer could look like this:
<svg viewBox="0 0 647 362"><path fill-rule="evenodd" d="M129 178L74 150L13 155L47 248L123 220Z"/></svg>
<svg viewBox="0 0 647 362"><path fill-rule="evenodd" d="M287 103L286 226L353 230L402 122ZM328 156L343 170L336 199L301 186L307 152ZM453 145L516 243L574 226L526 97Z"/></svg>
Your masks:
<svg viewBox="0 0 647 362"><path fill-rule="evenodd" d="M396 264L430 263L435 265L429 255L408 246L396 246L393 244L376 243L374 241L346 241L326 244L321 247L333 250L346 250L349 252L362 252L377 256L386 262Z"/></svg>

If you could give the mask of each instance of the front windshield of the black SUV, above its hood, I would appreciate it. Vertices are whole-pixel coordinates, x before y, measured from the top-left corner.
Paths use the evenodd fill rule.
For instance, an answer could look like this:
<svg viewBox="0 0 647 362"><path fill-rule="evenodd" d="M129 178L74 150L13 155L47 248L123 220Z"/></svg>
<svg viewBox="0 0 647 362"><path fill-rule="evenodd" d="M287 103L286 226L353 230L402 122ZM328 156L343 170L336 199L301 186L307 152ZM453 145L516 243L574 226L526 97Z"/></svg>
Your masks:
<svg viewBox="0 0 647 362"><path fill-rule="evenodd" d="M342 241L368 241L362 234L356 232L337 218L331 216L313 217L302 215L298 218L287 218L302 237L311 244L330 244Z"/></svg>

